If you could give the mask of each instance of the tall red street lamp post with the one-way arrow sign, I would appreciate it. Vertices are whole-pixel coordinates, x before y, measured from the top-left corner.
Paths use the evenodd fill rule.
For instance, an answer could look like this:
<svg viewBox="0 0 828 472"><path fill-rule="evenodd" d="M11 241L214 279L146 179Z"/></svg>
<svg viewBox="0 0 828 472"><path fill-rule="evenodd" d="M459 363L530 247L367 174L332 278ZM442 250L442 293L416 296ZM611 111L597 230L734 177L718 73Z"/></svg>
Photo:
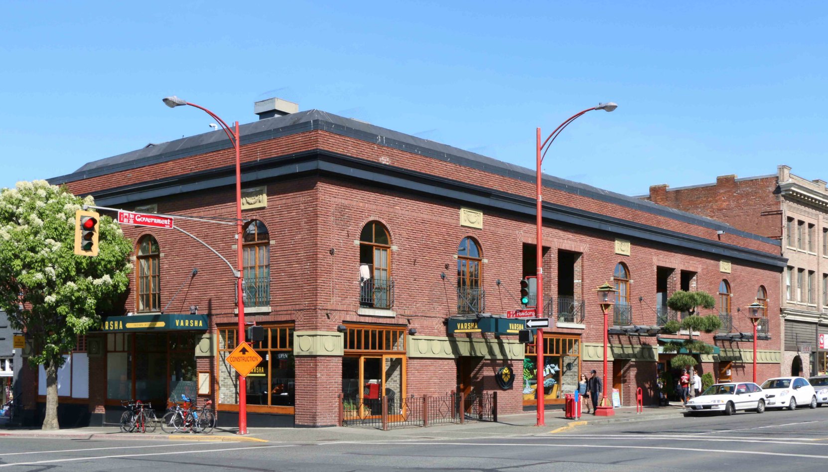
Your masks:
<svg viewBox="0 0 828 472"><path fill-rule="evenodd" d="M555 138L558 134L566 128L569 123L572 123L575 118L580 117L580 115L591 112L592 110L604 110L607 112L613 111L615 108L618 108L618 104L614 104L613 102L609 102L606 104L598 104L597 107L593 108L586 108L585 110L575 113L570 118L568 118L564 123L555 129L546 140L541 143L541 128L537 128L537 146L535 148L536 157L537 157L537 166L536 166L536 191L535 196L537 200L537 216L535 220L535 226L537 229L537 299L535 301L535 317L540 318L542 316L543 311L543 222L542 222L542 176L541 176L541 164L543 162L543 157L546 156L546 152L549 151L549 147L551 146L552 142L555 141ZM546 147L546 150L544 150ZM605 333L604 333L605 334ZM544 426L546 424L546 420L544 418L544 407L543 407L543 329L537 329L537 335L535 338L535 352L537 354L537 373L535 376L537 377L537 383L535 384L535 396L537 397L537 422L535 426Z"/></svg>

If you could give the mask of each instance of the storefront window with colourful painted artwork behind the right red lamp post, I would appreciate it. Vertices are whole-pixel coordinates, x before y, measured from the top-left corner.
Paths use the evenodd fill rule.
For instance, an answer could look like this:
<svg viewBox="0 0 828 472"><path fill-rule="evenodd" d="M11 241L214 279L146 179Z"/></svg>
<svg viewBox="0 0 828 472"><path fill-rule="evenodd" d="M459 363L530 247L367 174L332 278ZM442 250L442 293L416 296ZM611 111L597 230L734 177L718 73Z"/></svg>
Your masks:
<svg viewBox="0 0 828 472"><path fill-rule="evenodd" d="M523 359L523 402L537 401L538 370L542 372L543 397L562 402L564 393L572 393L580 377L580 340L561 336L544 336L543 366L537 368L534 344L528 344Z"/></svg>

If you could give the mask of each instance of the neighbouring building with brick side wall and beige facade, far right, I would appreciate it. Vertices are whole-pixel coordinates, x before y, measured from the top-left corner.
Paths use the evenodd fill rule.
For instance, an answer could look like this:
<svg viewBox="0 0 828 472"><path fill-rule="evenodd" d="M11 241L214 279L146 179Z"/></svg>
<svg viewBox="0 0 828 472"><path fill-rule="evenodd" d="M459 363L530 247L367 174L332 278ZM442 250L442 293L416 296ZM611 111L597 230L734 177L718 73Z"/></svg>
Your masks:
<svg viewBox="0 0 828 472"><path fill-rule="evenodd" d="M782 257L788 260L779 282L782 373L828 373L826 181L808 181L793 175L790 167L778 166L776 174L720 176L715 184L652 185L646 198L781 241Z"/></svg>

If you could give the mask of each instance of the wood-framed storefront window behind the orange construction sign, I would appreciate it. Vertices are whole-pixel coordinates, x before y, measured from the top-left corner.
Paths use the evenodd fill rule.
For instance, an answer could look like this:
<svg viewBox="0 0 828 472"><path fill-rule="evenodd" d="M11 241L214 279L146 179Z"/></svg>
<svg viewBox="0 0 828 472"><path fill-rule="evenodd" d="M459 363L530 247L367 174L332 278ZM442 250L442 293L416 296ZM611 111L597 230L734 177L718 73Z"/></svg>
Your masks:
<svg viewBox="0 0 828 472"><path fill-rule="evenodd" d="M247 377L248 405L288 407L296 404L293 325L265 326L264 340L251 343L262 357ZM236 329L219 329L219 403L238 403L238 375L225 360L236 348Z"/></svg>

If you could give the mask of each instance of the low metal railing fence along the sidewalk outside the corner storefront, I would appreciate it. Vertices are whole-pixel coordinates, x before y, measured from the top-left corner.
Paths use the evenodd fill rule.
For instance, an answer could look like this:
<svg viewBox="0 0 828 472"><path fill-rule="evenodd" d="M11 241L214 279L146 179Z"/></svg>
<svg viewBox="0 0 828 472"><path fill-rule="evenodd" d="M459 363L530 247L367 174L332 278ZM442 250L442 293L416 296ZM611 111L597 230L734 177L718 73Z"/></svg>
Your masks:
<svg viewBox="0 0 828 472"><path fill-rule="evenodd" d="M421 397L348 398L339 394L339 426L383 431L465 421L498 421L498 393L422 395Z"/></svg>

